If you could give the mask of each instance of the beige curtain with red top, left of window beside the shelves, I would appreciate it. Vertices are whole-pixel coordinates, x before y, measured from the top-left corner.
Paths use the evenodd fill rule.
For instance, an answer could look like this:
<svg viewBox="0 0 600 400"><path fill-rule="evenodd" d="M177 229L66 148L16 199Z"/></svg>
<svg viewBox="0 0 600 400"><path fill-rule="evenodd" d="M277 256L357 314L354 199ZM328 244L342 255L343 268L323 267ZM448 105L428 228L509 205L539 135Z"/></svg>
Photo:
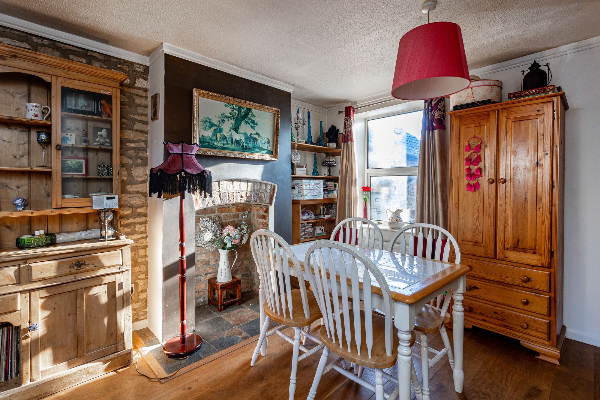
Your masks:
<svg viewBox="0 0 600 400"><path fill-rule="evenodd" d="M344 133L341 137L340 187L338 189L337 213L335 223L355 217L358 210L358 190L356 189L356 150L354 145L354 108L346 107Z"/></svg>

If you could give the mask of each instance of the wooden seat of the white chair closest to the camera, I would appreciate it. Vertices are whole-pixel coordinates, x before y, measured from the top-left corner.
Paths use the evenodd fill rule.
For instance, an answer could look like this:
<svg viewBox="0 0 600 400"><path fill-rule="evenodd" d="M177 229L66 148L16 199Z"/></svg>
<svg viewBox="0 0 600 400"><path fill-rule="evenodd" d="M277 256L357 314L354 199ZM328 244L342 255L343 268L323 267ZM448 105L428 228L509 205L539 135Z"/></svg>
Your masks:
<svg viewBox="0 0 600 400"><path fill-rule="evenodd" d="M361 321L364 321L365 312L361 311ZM344 332L344 319L341 318L341 332ZM352 332L354 332L354 315L350 313L350 326ZM346 337L343 335L341 347L339 338L327 337L327 329L325 326L321 327L320 330L321 341L325 347L329 348L332 353L337 354L344 359L357 363L358 365L365 366L367 368L390 368L395 365L398 357L398 330L392 327L392 354L388 356L385 352L385 318L379 315L373 314L373 348L371 349L371 358L368 356L367 351L367 333L365 331L364 324L361 324L361 354L358 354L355 341L351 341L350 350L346 344ZM415 332L410 333L410 346L415 344Z"/></svg>

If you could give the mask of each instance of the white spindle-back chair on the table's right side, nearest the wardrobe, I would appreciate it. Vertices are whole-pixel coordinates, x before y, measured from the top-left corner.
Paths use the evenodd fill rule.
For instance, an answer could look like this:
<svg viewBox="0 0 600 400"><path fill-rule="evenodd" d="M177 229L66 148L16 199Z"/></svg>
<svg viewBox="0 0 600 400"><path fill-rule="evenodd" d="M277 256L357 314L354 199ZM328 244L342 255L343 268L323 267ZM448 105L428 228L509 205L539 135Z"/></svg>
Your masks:
<svg viewBox="0 0 600 400"><path fill-rule="evenodd" d="M427 234L426 234L427 232ZM406 240L406 235L409 235ZM398 244L398 240L400 243ZM416 251L415 251L416 247ZM455 261L460 264L460 249L458 242L446 231L446 229L431 225L429 223L413 223L403 226L389 241L389 251L395 251L402 254L416 255L419 257L436 259L438 261L448 261L451 250L454 250ZM426 265L424 265L426 267ZM415 268L418 270L419 266ZM415 315L415 330L421 335L421 367L422 367L422 396L424 400L429 399L429 369L436 365L443 356L448 354L450 368L454 370L454 356L445 323L450 320L448 306L452 292L448 291L446 295L440 293L434 300L426 304L417 315ZM435 350L427 345L427 335L439 332L442 336L444 348L441 351ZM434 354L433 359L429 359L429 353ZM419 357L419 354L414 353Z"/></svg>

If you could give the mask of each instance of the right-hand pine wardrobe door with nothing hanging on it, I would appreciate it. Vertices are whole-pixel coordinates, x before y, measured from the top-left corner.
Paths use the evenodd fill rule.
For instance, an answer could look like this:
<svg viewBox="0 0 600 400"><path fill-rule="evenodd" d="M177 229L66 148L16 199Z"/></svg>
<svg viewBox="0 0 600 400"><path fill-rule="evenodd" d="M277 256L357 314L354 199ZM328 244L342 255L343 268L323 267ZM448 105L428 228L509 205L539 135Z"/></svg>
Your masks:
<svg viewBox="0 0 600 400"><path fill-rule="evenodd" d="M553 103L500 110L498 258L550 267Z"/></svg>

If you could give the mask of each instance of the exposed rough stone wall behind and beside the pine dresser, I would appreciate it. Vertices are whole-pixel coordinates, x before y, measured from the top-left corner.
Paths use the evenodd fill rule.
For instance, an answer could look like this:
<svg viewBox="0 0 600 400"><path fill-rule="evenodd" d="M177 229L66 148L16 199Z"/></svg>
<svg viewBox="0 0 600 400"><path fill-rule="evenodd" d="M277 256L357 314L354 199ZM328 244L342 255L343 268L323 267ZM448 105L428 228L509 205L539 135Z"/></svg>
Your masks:
<svg viewBox="0 0 600 400"><path fill-rule="evenodd" d="M131 247L133 321L146 318L148 297L148 67L0 26L0 43L128 74L121 86L121 212Z"/></svg>

